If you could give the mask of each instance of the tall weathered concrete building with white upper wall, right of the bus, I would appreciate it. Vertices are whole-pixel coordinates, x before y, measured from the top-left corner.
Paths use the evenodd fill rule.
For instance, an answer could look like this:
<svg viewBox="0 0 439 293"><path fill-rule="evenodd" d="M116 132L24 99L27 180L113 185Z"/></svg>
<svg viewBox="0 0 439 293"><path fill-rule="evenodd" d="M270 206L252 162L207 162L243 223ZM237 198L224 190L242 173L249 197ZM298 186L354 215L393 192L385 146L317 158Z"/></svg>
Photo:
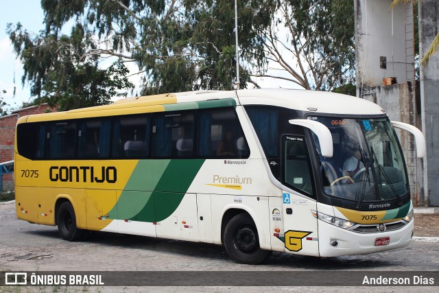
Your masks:
<svg viewBox="0 0 439 293"><path fill-rule="evenodd" d="M382 106L390 119L412 124L427 139L427 157L416 159L414 137L399 132L404 149L412 199L417 206L438 206L439 54L414 69L414 6L390 8L392 0L355 0L357 96ZM439 3L419 1L420 58L439 29ZM436 95L435 95L436 86Z"/></svg>

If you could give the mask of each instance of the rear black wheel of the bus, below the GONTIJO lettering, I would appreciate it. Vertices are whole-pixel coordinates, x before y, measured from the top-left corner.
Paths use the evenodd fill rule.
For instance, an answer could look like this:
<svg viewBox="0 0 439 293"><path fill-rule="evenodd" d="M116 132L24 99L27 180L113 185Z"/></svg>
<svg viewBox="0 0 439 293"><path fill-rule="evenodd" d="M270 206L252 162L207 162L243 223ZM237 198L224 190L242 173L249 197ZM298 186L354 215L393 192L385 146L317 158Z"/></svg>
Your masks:
<svg viewBox="0 0 439 293"><path fill-rule="evenodd" d="M78 241L84 235L84 231L76 226L75 210L70 202L62 202L56 218L58 233L67 241Z"/></svg>

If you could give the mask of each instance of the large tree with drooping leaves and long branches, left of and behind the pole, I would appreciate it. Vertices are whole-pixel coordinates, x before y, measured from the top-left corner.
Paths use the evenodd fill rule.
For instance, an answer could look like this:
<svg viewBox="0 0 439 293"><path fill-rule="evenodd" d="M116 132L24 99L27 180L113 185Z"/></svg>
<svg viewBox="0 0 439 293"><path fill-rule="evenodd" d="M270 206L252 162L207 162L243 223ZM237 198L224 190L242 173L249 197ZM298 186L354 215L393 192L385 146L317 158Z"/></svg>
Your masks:
<svg viewBox="0 0 439 293"><path fill-rule="evenodd" d="M248 65L263 59L250 51L261 52L255 29L270 23L274 1L239 1L239 43L245 48L241 58ZM44 32L32 38L21 25L8 27L25 64L23 82L32 84L35 95L45 94L44 90L59 95L54 84L47 83L66 84L75 68L85 64L96 70L97 62L108 56L121 64L135 62L143 74L143 94L234 87L233 1L42 0L41 4ZM71 20L75 26L70 36L60 36ZM248 76L244 73L244 86Z"/></svg>

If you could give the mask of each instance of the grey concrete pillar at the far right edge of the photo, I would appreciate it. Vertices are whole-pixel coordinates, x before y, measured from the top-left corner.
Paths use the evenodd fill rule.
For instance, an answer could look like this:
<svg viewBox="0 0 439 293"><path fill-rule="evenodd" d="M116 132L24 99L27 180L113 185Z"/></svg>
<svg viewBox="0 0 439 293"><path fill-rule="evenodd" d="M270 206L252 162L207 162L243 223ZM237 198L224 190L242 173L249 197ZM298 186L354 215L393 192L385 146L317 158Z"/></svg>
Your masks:
<svg viewBox="0 0 439 293"><path fill-rule="evenodd" d="M439 32L439 2L418 1L420 58ZM429 206L439 206L439 51L420 65L420 103L422 128L427 139L424 160L424 186ZM428 163L428 164L427 164Z"/></svg>

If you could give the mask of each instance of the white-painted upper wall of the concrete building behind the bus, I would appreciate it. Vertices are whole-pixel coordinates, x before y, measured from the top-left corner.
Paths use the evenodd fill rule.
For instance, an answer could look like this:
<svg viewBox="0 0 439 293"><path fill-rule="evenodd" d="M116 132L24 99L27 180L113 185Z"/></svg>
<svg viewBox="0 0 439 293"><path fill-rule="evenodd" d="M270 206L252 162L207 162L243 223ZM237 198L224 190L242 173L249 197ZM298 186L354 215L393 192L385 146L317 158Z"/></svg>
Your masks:
<svg viewBox="0 0 439 293"><path fill-rule="evenodd" d="M405 5L390 9L392 0L355 0L357 89L380 86L383 78L406 79ZM380 56L387 69L380 68Z"/></svg>

